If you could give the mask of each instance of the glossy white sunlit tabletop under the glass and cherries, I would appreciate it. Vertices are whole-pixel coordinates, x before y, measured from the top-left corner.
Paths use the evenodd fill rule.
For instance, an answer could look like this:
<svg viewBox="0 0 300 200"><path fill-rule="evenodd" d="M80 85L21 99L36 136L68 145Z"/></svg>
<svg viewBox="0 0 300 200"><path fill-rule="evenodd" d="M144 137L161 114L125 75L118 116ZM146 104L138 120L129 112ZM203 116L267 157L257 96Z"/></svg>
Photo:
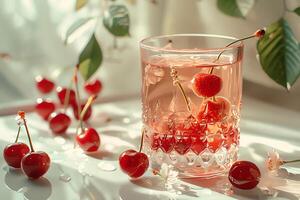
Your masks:
<svg viewBox="0 0 300 200"><path fill-rule="evenodd" d="M241 121L240 159L255 162L263 171L268 151L276 149L285 159L300 158L300 114L280 109L245 97ZM47 123L28 114L36 150L49 153L52 164L48 173L38 181L27 180L19 171L9 170L0 159L0 199L298 199L300 197L300 164L281 170L285 178L263 178L274 187L272 195L256 188L250 191L228 190L226 177L211 180L182 180L178 189L182 194L165 191L161 180L150 172L137 181L130 181L118 166L120 152L135 148L140 137L140 102L137 99L102 103L94 106L91 124L101 135L100 153L88 156L73 149L72 128L66 137L54 136ZM104 123L106 116L111 122ZM15 116L0 118L0 146L14 141L17 126ZM73 126L75 127L75 125ZM26 139L22 132L21 141ZM137 147L136 147L137 148ZM99 167L100 166L100 167ZM298 167L298 168L297 168ZM294 174L293 174L294 173ZM298 173L298 174L297 174ZM265 173L263 172L265 176ZM289 179L289 180L287 180ZM292 179L292 181L291 181ZM286 181L289 181L286 184ZM277 191L277 192L276 192ZM298 196L297 196L298 195ZM23 197L24 196L24 197ZM277 196L277 197L276 197Z"/></svg>

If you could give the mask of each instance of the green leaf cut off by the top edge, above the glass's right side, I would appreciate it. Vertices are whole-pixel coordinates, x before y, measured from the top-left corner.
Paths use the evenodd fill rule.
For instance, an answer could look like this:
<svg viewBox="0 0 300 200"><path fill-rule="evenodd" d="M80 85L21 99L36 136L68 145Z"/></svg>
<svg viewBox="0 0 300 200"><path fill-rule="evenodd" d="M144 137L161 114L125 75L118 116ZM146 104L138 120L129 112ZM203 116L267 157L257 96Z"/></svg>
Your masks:
<svg viewBox="0 0 300 200"><path fill-rule="evenodd" d="M226 15L244 18L255 4L255 0L218 0L217 6Z"/></svg>

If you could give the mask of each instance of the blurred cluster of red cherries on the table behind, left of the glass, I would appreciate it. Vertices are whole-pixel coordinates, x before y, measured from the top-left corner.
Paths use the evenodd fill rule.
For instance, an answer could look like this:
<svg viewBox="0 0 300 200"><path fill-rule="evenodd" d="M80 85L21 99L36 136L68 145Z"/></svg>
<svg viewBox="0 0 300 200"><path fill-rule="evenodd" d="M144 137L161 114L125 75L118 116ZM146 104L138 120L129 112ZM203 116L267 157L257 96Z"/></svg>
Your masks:
<svg viewBox="0 0 300 200"><path fill-rule="evenodd" d="M75 84L78 84L77 74L74 75L73 79ZM44 94L50 93L55 85L51 80L41 76L38 76L36 81L37 89ZM98 95L102 90L102 83L98 79L91 82L86 82L84 85L84 90L88 95ZM70 106L73 110L74 118L81 121L80 114L86 104L81 104L78 102L80 100L76 98L76 92L71 88L59 86L56 88L56 95L59 103L63 106ZM44 120L48 121L50 130L55 134L66 133L72 123L72 119L66 114L66 112L56 110L56 105L50 99L39 98L37 100L35 110L38 115L40 115ZM83 115L82 121L89 120L91 115L92 107L90 104L87 108L87 111ZM85 130L82 129L81 133L76 136L76 142L85 152L94 152L97 151L100 146L100 137L97 131L93 128Z"/></svg>

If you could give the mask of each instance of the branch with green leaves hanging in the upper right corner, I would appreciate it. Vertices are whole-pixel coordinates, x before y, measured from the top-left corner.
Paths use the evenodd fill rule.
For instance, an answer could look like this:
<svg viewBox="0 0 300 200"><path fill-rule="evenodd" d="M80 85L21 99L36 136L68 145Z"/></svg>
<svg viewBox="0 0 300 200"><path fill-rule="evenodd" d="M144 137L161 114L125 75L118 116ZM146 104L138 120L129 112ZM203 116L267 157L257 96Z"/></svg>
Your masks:
<svg viewBox="0 0 300 200"><path fill-rule="evenodd" d="M242 2L242 4L241 4ZM232 17L245 19L255 0L218 0L221 12ZM283 0L283 14L279 20L267 26L265 37L257 42L259 62L266 74L288 90L300 76L300 44L296 40L285 12L300 16L300 7L288 10Z"/></svg>

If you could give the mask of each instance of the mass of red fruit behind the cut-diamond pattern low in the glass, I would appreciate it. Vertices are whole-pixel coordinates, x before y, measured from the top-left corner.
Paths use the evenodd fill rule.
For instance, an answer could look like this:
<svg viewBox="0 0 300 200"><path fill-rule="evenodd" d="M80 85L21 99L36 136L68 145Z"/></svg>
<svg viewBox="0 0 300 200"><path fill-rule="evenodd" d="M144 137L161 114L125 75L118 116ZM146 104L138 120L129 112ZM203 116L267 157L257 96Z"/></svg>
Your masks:
<svg viewBox="0 0 300 200"><path fill-rule="evenodd" d="M180 155L192 150L199 155L206 148L216 152L222 146L229 149L239 141L238 130L231 126L224 127L220 133L210 132L205 123L201 124L190 116L184 122L172 123L168 131L154 133L150 138L151 149L156 151L160 148L165 153L175 150Z"/></svg>

